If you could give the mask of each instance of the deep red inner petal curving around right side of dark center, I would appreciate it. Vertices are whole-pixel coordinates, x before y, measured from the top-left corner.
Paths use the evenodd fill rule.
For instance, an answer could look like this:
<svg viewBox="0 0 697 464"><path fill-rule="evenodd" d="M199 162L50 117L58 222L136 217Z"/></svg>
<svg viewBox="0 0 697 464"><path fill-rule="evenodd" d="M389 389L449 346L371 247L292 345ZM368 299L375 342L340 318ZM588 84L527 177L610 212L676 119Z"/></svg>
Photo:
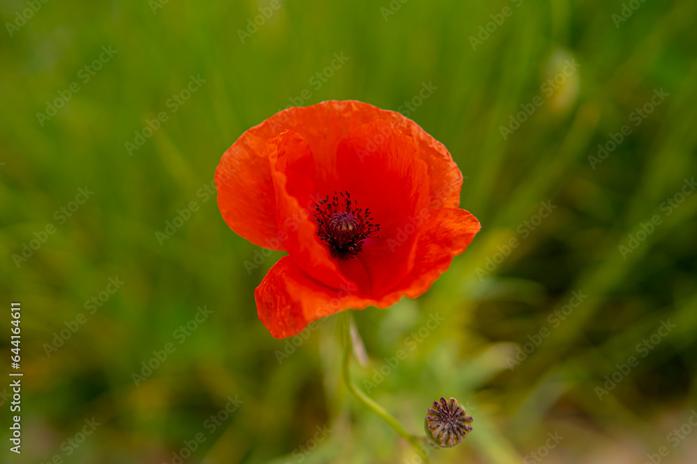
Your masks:
<svg viewBox="0 0 697 464"><path fill-rule="evenodd" d="M386 294L413 266L418 228L412 222L428 209L430 185L416 153L413 139L384 120L353 129L337 148L337 182L380 225L356 259L337 261L362 294Z"/></svg>

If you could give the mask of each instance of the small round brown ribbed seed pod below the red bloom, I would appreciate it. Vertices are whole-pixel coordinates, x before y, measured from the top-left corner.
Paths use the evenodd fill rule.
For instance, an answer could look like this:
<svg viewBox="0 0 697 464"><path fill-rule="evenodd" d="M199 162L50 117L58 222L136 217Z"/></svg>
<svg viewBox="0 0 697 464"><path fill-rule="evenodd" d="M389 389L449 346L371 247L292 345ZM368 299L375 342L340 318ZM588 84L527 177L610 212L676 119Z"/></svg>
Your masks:
<svg viewBox="0 0 697 464"><path fill-rule="evenodd" d="M427 438L437 447L452 448L459 445L472 431L473 419L457 402L451 398L434 401L424 422Z"/></svg>

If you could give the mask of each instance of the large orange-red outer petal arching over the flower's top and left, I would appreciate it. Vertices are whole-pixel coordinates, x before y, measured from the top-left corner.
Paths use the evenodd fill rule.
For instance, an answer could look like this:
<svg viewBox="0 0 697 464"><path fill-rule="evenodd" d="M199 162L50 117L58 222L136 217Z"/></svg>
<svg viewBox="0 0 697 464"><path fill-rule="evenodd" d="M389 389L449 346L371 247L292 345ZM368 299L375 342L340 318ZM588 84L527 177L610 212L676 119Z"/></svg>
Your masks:
<svg viewBox="0 0 697 464"><path fill-rule="evenodd" d="M223 154L215 170L215 185L218 207L225 222L241 237L258 246L283 250L278 239L275 191L266 141L291 129L307 141L317 157L316 166L331 166L330 160L335 157L339 142L355 127L374 120L386 120L397 131L413 139L416 156L429 169L431 198L438 199L439 206L457 207L462 175L442 143L395 111L355 100L331 100L279 111L245 131ZM328 177L323 169L316 174L321 178Z"/></svg>

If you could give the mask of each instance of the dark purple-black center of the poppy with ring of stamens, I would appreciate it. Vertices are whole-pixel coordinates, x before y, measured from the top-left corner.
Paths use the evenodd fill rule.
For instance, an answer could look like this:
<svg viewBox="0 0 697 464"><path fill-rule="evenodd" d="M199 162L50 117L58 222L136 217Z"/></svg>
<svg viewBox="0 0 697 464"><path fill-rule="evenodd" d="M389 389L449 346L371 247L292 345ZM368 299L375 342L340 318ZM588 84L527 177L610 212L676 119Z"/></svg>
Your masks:
<svg viewBox="0 0 697 464"><path fill-rule="evenodd" d="M314 207L314 223L317 236L332 251L332 256L348 259L358 255L363 249L363 241L377 237L380 225L373 225L368 208L356 208L358 202L351 200L351 194L334 192L332 201L329 195Z"/></svg>

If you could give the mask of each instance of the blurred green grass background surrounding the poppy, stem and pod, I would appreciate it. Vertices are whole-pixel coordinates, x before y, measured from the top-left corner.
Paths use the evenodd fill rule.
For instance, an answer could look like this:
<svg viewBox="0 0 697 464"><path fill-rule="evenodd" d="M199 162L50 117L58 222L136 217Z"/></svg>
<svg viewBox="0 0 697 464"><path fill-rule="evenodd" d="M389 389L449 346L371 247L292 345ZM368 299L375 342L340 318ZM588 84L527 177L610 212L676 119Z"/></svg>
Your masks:
<svg viewBox="0 0 697 464"><path fill-rule="evenodd" d="M270 337L253 290L282 253L231 232L207 190L245 129L359 99L448 147L482 232L418 300L354 314L355 382L413 433L441 396L466 406L475 430L431 463L695 462L697 3L273 6L0 2L0 293L22 302L24 371L21 456L0 384L0 461L420 462L339 382L338 317L299 346Z"/></svg>

